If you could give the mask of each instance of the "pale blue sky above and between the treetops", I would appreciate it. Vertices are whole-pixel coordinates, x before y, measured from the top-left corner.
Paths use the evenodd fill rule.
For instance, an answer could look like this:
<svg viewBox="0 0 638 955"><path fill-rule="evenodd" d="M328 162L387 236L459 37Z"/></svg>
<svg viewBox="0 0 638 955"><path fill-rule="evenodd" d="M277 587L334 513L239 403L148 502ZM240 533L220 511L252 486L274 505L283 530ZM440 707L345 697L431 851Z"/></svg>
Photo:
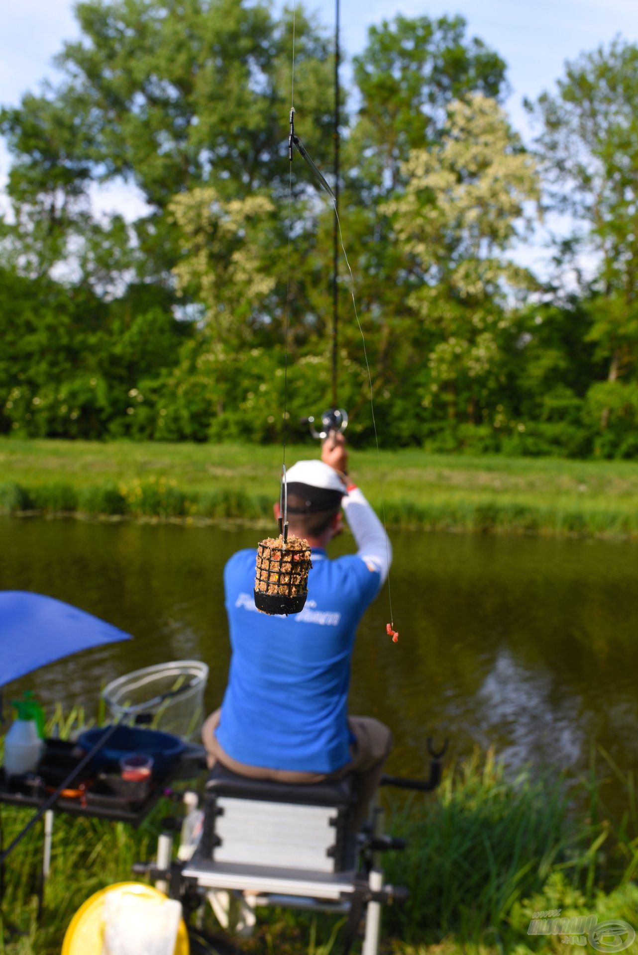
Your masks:
<svg viewBox="0 0 638 955"><path fill-rule="evenodd" d="M290 2L290 0L288 0ZM277 7L281 0L276 0ZM330 29L334 0L310 0ZM638 42L638 0L341 0L342 45L359 52L371 24L407 16L462 13L469 31L484 39L509 65L512 95L507 104L514 125L525 138L529 131L521 109L523 96L534 97L551 87L562 74L564 61L583 50L607 44L616 33ZM0 32L0 103L16 103L22 93L35 90L45 76L53 76L53 55L65 38L77 31L70 0L5 0ZM9 157L0 143L0 187ZM138 198L114 184L94 196L96 208L119 209L134 218Z"/></svg>

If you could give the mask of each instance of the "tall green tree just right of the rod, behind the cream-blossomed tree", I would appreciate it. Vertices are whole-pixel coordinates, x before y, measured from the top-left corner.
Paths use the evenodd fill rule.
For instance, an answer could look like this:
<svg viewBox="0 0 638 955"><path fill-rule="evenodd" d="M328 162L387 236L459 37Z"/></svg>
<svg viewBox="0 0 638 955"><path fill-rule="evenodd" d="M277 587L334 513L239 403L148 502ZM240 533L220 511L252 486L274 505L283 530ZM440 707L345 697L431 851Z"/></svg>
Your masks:
<svg viewBox="0 0 638 955"><path fill-rule="evenodd" d="M366 49L353 59L360 105L343 150L341 219L374 369L378 423L393 440L409 443L422 438L429 414L419 403L415 408L411 384L422 355L414 348L419 319L408 302L420 280L395 241L384 202L405 188L401 170L410 150L440 141L452 100L501 95L505 64L468 35L461 17L399 15L372 27L368 36ZM325 218L329 244L330 210ZM342 288L341 313L350 317L342 322L342 360L351 368L361 360L361 342L345 282ZM363 390L357 402L363 413L366 402Z"/></svg>

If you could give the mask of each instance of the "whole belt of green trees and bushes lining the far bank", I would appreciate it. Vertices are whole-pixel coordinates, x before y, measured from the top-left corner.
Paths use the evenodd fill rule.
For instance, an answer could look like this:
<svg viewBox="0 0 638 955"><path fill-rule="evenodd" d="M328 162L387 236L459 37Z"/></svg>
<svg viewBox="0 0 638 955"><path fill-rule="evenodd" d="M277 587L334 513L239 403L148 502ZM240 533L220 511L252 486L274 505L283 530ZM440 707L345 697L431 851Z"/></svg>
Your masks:
<svg viewBox="0 0 638 955"><path fill-rule="evenodd" d="M287 162L292 11L83 0L76 17L56 83L0 110L0 433L279 442L288 329L300 437L332 400L333 212ZM295 35L297 130L330 178L330 37L299 5ZM617 39L568 64L533 107L533 157L500 106L505 63L461 17L370 29L341 104L340 215L382 445L638 455L637 63ZM138 211L96 214L103 182L135 187ZM512 261L542 205L574 223L544 284ZM363 446L339 271L337 398Z"/></svg>

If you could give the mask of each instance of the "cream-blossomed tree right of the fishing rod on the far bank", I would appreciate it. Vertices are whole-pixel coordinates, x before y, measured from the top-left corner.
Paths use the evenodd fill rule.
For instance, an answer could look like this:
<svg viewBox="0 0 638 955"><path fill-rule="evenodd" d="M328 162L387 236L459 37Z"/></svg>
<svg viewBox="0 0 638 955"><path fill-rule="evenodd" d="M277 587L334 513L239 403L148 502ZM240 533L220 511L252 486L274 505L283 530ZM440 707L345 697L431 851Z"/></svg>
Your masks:
<svg viewBox="0 0 638 955"><path fill-rule="evenodd" d="M539 182L495 100L456 101L447 117L439 143L410 153L401 169L407 187L383 211L419 278L409 304L427 355L421 402L443 402L450 417L481 421L513 320L508 289L531 285L503 253L526 217L525 203L539 199Z"/></svg>

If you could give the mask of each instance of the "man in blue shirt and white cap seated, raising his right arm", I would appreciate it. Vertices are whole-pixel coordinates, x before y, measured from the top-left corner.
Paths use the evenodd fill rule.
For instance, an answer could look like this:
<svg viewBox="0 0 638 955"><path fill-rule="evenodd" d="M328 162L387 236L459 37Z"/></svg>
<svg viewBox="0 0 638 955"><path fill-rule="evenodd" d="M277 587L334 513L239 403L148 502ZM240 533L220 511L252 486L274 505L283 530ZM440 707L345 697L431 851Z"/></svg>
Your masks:
<svg viewBox="0 0 638 955"><path fill-rule="evenodd" d="M372 717L348 715L356 628L390 569L392 548L381 521L348 476L342 433L331 433L321 460L287 473L290 533L311 547L308 593L299 614L267 616L252 600L255 551L227 562L223 581L232 657L220 710L202 738L209 765L253 779L313 783L353 772L358 826L392 747L392 733ZM275 517L279 518L279 505ZM330 560L327 547L348 521L356 554Z"/></svg>

